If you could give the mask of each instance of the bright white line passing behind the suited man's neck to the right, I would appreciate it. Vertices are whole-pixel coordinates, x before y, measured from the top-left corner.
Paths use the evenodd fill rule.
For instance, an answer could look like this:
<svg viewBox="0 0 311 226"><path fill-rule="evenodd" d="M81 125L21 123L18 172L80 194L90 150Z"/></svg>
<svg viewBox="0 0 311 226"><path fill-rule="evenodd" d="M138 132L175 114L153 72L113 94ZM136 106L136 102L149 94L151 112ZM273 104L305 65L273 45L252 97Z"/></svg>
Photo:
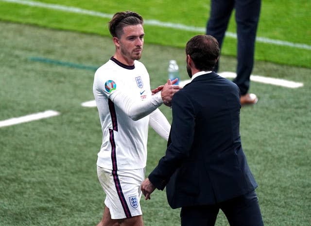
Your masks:
<svg viewBox="0 0 311 226"><path fill-rule="evenodd" d="M224 78L234 79L235 77L237 77L236 73L228 72L228 71L221 72L218 74ZM303 86L302 82L295 82L295 81L288 81L288 80L284 80L284 79L269 78L269 77L263 77L260 75L251 75L250 80L265 83L265 84L283 86L283 87L287 87L287 88L299 88L299 87ZM179 84L180 84L180 86L184 86L187 83L189 83L190 81L191 81L190 79L185 80L185 81L180 81Z"/></svg>

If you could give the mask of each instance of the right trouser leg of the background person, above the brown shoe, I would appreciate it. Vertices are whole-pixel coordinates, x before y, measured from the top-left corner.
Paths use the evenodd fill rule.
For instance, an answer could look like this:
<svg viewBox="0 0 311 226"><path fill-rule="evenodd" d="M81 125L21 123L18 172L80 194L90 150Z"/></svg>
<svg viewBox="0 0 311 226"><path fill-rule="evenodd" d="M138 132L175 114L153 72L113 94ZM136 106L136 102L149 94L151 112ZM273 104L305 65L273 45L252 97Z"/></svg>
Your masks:
<svg viewBox="0 0 311 226"><path fill-rule="evenodd" d="M255 40L261 0L236 0L235 19L238 34L237 77L233 80L245 95L254 65Z"/></svg>

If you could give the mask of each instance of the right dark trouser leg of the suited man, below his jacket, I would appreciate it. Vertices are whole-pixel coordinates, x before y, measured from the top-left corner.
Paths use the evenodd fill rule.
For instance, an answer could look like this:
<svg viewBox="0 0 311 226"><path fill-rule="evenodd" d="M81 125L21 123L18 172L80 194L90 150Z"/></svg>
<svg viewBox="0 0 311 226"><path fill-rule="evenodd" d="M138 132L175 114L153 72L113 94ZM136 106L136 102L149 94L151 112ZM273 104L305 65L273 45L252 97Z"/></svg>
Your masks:
<svg viewBox="0 0 311 226"><path fill-rule="evenodd" d="M220 204L230 226L263 226L255 191Z"/></svg>

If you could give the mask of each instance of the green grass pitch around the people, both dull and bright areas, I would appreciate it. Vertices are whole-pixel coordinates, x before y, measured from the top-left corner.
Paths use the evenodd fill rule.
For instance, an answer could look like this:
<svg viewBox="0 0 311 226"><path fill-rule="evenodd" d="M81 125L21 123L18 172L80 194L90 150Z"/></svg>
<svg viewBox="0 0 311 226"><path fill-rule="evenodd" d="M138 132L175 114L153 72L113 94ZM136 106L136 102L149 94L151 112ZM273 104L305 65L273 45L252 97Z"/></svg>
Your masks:
<svg viewBox="0 0 311 226"><path fill-rule="evenodd" d="M44 2L59 4L53 0ZM129 1L124 1L123 6L111 2L104 3L110 6L104 11L101 1L89 2L67 0L62 4L107 14L132 7ZM155 1L151 2L155 4ZM149 11L148 7L133 8L141 11L146 19L204 27L207 13L202 13L197 20L184 18L187 12L182 9L190 2L178 6L182 18L177 18L177 14L168 16L152 7ZM157 3L158 7L167 4L165 1ZM203 3L191 6L195 12L199 6L200 10L208 11L207 2L199 4ZM272 14L272 6L273 2L263 0L263 15ZM283 7L275 7L276 12L282 12ZM5 9L10 9L11 14L5 13ZM299 10L300 13L297 9L289 9L289 13L295 15L293 20L306 19L301 15L305 10ZM282 16L281 13L278 15ZM102 131L96 108L85 108L81 103L94 99L94 68L113 55L114 46L104 33L108 19L85 17L81 20L75 14L0 1L0 121L46 110L60 113L59 116L0 128L0 226L93 226L102 217L104 193L96 175ZM96 20L93 26L90 25L92 20ZM310 36L308 27L298 23L302 30L297 31L297 38L293 31L286 32L286 21L287 17L279 19L278 27L274 24L276 21L271 21L269 30L263 25L267 18L261 16L259 35L311 44L307 38L308 34ZM234 25L230 26L234 32ZM290 27L288 29L292 29ZM188 79L181 32L172 32L172 37L179 43L173 45L175 42L164 35L170 35L170 29L146 26L145 31L146 44L141 61L150 73L151 86L156 87L167 80L170 59L177 61L181 79ZM161 45L155 44L155 37L152 38L155 35L163 37L159 40ZM193 32L186 32L184 36L191 35ZM234 39L227 40L225 51L229 55L229 47L234 42ZM266 53L269 48L271 46L259 43L256 51ZM291 89L252 82L250 91L258 95L259 101L241 110L242 145L259 184L256 191L265 225L308 226L311 223L310 50L273 48L271 51L284 55L284 59L295 59L295 63L277 62L269 55L262 59L259 54L253 74L302 82L304 86ZM51 59L54 63L34 61L34 58ZM299 62L305 62L305 65ZM234 72L235 67L235 57L223 54L221 71ZM171 110L164 106L160 109L171 121ZM164 155L166 146L152 129L149 138L147 175ZM155 191L151 200L141 199L140 203L146 226L180 225L179 210L170 209L165 192ZM223 213L219 214L216 226L228 226Z"/></svg>

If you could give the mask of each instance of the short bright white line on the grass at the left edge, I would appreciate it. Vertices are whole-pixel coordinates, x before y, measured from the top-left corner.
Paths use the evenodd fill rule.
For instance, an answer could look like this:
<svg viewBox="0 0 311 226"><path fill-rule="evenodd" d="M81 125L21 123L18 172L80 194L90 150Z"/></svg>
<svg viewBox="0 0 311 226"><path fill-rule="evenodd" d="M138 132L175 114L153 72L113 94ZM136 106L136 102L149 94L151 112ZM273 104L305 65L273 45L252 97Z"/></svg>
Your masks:
<svg viewBox="0 0 311 226"><path fill-rule="evenodd" d="M10 118L4 121L0 121L0 128L16 125L20 123L25 123L25 122L35 121L35 120L39 120L43 118L49 118L49 117L53 117L59 114L60 114L59 112L47 110L45 112L28 114L28 115L17 117L17 118Z"/></svg>

